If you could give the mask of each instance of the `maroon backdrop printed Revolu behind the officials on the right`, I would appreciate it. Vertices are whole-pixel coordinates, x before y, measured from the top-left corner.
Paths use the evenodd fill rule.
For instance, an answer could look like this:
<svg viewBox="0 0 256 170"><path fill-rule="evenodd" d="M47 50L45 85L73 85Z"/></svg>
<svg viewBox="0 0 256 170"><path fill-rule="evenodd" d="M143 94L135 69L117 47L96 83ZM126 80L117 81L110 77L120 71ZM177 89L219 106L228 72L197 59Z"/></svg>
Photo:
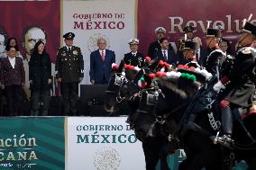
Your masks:
<svg viewBox="0 0 256 170"><path fill-rule="evenodd" d="M196 27L195 35L204 37L207 21L211 22L211 27L221 24L224 38L234 46L242 19L253 13L251 22L256 23L255 0L141 0L138 3L138 37L144 54L147 54L150 42L155 40L154 30L159 26L166 28L170 41L177 42L186 25ZM205 43L204 39L202 41Z"/></svg>

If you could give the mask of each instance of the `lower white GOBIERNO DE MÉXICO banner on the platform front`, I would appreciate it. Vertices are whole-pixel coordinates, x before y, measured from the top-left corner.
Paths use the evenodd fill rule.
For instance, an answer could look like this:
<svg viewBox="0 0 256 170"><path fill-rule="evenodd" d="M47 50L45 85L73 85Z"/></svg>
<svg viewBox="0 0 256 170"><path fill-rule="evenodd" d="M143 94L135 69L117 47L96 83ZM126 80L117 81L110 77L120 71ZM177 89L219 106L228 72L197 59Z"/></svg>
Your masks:
<svg viewBox="0 0 256 170"><path fill-rule="evenodd" d="M126 117L69 117L69 170L145 170L142 143Z"/></svg>

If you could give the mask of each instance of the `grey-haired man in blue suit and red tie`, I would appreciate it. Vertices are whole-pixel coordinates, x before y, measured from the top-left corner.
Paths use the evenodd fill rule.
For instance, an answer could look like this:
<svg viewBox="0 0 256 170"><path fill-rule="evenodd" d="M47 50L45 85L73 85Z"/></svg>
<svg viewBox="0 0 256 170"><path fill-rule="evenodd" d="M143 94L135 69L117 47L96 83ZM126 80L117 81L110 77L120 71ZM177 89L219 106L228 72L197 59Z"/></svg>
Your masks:
<svg viewBox="0 0 256 170"><path fill-rule="evenodd" d="M115 63L114 51L105 49L106 40L97 40L99 49L90 55L90 81L92 85L106 85L111 76L112 64Z"/></svg>

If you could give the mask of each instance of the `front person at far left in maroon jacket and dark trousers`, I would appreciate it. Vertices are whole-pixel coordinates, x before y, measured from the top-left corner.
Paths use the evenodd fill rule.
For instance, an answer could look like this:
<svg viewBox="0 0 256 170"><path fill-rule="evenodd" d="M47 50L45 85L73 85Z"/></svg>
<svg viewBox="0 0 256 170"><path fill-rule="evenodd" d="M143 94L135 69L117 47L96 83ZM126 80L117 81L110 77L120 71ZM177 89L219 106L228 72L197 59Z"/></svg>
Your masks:
<svg viewBox="0 0 256 170"><path fill-rule="evenodd" d="M15 56L15 47L8 46L6 50L7 58L1 60L1 85L5 86L9 115L17 116L22 104L21 95L25 83L25 71L23 59Z"/></svg>

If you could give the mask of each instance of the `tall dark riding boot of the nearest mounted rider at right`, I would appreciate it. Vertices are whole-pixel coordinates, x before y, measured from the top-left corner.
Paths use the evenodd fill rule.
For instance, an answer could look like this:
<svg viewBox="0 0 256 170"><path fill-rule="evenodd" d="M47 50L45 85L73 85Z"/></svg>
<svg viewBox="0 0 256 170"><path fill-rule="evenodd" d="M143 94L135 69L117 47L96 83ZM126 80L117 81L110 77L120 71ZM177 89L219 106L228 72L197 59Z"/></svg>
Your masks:
<svg viewBox="0 0 256 170"><path fill-rule="evenodd" d="M230 108L230 105L222 105L221 104L221 114L222 114L222 128L223 128L223 136L218 137L218 140L221 142L232 142L233 139L233 113Z"/></svg>

